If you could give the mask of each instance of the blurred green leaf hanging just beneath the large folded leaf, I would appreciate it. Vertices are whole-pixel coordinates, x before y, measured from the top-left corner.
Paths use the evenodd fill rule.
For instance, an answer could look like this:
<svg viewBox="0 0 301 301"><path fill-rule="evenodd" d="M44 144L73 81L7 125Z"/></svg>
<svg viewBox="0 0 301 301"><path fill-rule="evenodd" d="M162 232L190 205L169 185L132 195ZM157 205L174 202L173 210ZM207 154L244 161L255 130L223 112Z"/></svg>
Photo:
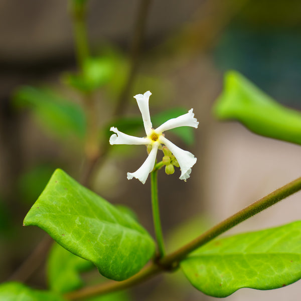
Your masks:
<svg viewBox="0 0 301 301"><path fill-rule="evenodd" d="M84 284L80 272L89 270L93 266L91 261L78 257L55 243L51 248L47 264L50 289L65 293L80 288Z"/></svg>

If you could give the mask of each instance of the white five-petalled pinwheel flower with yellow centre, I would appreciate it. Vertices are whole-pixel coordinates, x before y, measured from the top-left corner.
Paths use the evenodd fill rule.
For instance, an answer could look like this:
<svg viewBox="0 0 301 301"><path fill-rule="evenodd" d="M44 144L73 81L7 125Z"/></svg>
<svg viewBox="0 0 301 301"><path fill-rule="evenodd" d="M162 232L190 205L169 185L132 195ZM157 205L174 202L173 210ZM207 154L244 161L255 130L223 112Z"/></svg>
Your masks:
<svg viewBox="0 0 301 301"><path fill-rule="evenodd" d="M146 137L139 138L127 135L125 133L120 132L116 127L111 127L110 130L115 132L110 137L110 144L150 144L152 145L152 150L150 151L148 157L145 162L141 165L141 167L136 170L134 173L127 173L127 179L131 180L132 178L138 179L143 184L145 183L148 174L152 172L156 162L157 150L161 143L165 144L168 149L173 153L176 157L180 168L181 168L181 180L186 180L190 177L191 168L197 162L197 158L194 157L193 154L187 152L187 150L183 150L178 147L170 140L168 140L163 132L179 126L192 126L197 128L199 122L196 118L194 118L193 109L189 110L187 114L181 115L177 118L172 118L162 125L153 129L152 121L150 121L149 115L149 107L148 107L148 99L149 96L152 95L149 91L142 94L137 94L134 96L137 100L138 107L140 109L144 129L146 133Z"/></svg>

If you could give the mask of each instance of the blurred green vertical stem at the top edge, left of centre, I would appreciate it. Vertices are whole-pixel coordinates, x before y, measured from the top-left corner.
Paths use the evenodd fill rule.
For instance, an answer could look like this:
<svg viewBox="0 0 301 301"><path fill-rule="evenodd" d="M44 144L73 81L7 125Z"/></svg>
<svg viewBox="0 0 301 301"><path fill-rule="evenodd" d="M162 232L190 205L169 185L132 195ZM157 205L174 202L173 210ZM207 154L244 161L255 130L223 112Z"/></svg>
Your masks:
<svg viewBox="0 0 301 301"><path fill-rule="evenodd" d="M73 23L77 62L81 70L83 70L84 62L89 56L86 30L86 1L69 0L69 7Z"/></svg>

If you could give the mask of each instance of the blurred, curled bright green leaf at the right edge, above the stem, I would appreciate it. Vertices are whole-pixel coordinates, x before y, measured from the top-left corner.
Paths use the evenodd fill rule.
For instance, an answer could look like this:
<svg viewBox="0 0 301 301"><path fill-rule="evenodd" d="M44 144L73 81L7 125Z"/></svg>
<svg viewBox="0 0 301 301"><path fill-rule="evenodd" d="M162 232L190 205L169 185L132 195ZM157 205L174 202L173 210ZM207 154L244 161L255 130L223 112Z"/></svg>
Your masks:
<svg viewBox="0 0 301 301"><path fill-rule="evenodd" d="M280 105L238 72L226 73L214 113L259 135L301 144L301 113Z"/></svg>

